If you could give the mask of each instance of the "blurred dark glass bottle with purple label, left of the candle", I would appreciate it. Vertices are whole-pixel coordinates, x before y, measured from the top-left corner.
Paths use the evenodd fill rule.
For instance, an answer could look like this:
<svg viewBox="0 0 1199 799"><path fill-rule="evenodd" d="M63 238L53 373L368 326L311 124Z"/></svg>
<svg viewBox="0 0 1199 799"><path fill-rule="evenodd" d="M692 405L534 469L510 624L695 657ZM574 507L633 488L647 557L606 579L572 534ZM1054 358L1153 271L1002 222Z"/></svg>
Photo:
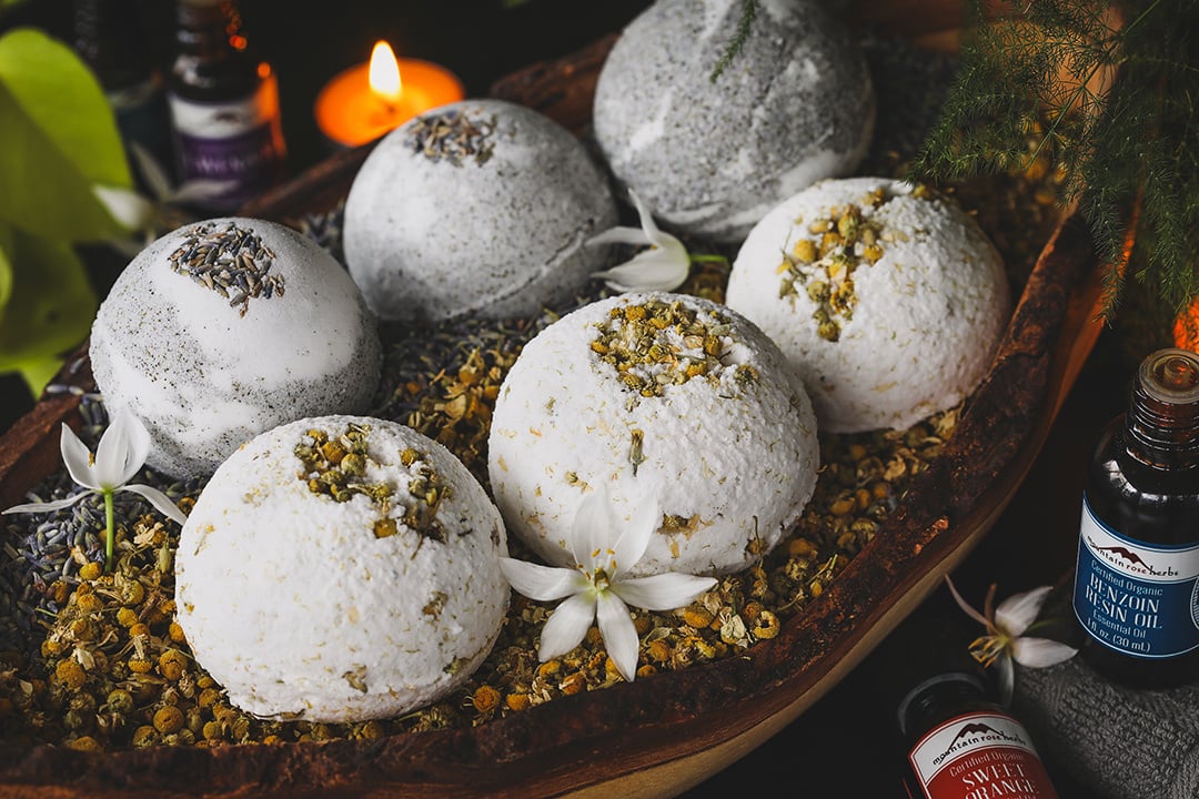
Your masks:
<svg viewBox="0 0 1199 799"><path fill-rule="evenodd" d="M234 0L179 0L176 48L168 97L180 178L217 188L193 206L234 211L284 174L275 72Z"/></svg>

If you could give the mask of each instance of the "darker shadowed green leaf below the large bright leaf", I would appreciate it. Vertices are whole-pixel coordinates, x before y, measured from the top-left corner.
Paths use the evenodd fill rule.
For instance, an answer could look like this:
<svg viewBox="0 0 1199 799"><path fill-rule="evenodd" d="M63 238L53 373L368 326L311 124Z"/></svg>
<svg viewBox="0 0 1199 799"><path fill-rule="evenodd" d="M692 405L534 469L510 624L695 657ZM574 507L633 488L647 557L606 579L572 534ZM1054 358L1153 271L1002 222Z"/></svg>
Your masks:
<svg viewBox="0 0 1199 799"><path fill-rule="evenodd" d="M0 371L24 370L78 346L96 295L70 244L13 231L12 295L0 317Z"/></svg>

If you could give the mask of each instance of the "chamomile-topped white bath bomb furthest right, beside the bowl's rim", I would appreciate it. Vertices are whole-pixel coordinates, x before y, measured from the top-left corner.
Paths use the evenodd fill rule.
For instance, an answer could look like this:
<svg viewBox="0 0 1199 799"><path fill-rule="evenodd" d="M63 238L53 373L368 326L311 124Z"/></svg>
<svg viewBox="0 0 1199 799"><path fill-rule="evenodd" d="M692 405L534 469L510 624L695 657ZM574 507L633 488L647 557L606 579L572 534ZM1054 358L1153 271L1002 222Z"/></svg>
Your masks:
<svg viewBox="0 0 1199 799"><path fill-rule="evenodd" d="M908 428L960 402L1007 325L1004 264L975 220L927 187L820 182L751 231L725 302L787 353L820 429Z"/></svg>

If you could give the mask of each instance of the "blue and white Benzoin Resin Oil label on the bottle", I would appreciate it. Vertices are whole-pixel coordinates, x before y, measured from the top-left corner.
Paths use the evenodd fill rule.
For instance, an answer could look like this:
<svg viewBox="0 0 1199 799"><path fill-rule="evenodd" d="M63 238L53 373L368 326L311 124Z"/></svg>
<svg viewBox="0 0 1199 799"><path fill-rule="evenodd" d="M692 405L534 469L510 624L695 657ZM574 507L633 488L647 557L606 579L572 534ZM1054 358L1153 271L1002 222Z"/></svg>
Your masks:
<svg viewBox="0 0 1199 799"><path fill-rule="evenodd" d="M1146 544L1103 523L1083 498L1074 615L1103 646L1173 658L1199 647L1199 544Z"/></svg>

